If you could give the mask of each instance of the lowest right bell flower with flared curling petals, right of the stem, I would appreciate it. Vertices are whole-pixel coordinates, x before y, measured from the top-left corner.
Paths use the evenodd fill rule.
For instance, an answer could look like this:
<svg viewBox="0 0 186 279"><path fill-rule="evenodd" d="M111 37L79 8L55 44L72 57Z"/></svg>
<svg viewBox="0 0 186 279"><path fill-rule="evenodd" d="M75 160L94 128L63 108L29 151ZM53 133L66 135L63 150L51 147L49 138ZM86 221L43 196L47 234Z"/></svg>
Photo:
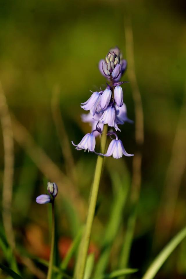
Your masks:
<svg viewBox="0 0 186 279"><path fill-rule="evenodd" d="M106 154L103 154L106 157L112 156L115 159L121 158L123 155L125 156L134 156L134 154L128 154L124 149L123 143L121 140L112 140L108 146L108 150Z"/></svg>

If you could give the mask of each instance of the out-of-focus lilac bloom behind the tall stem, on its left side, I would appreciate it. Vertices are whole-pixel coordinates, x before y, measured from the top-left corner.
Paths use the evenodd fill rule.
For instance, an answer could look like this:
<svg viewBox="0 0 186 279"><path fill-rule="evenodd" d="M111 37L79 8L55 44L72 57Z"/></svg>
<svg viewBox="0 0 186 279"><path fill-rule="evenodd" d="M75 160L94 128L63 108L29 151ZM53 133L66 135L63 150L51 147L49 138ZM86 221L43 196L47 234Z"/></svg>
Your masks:
<svg viewBox="0 0 186 279"><path fill-rule="evenodd" d="M89 123L90 126L92 126L92 131L94 130L93 135L95 137L100 135L100 133L96 130L96 128L99 128L100 132L103 131L104 124L99 122L101 116L102 116L102 112L95 113L94 116L92 116L90 112L88 114L83 113L81 115L81 120L85 123Z"/></svg>

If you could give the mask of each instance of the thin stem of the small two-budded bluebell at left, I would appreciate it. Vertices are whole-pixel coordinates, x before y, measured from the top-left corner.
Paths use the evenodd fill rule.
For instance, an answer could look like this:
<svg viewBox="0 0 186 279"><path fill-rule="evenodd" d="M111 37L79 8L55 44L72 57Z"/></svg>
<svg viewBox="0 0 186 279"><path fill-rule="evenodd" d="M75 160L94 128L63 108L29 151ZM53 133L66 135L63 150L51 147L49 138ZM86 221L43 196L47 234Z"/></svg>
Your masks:
<svg viewBox="0 0 186 279"><path fill-rule="evenodd" d="M48 269L47 279L52 278L54 242L55 242L55 216L54 216L54 200L53 200L52 201L51 251L50 251L50 260L49 260L49 269Z"/></svg>

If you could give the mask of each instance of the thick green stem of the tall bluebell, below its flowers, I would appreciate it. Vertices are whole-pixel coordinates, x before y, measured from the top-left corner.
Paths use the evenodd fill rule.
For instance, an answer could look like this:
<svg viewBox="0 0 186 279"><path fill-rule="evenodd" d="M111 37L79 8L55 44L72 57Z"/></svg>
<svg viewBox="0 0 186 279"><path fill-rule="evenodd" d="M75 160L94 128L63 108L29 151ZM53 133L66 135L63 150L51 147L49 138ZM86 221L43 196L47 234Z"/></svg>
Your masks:
<svg viewBox="0 0 186 279"><path fill-rule="evenodd" d="M101 153L105 152L107 129L108 129L108 126L104 125L103 133L101 135ZM91 189L91 193L90 193L87 221L86 221L85 231L84 231L84 235L83 235L83 239L82 239L82 243L81 243L81 247L80 247L81 250L78 255L77 269L75 271L76 279L83 279L84 272L85 272L85 265L86 265L87 253L88 253L88 248L89 248L89 243L90 243L92 223L94 220L94 213L95 213L95 208L96 208L99 183L100 183L100 179L101 179L103 160L104 160L103 156L98 156L97 163L96 163L96 169L95 169L95 173L94 173L94 180L93 180L92 189Z"/></svg>

